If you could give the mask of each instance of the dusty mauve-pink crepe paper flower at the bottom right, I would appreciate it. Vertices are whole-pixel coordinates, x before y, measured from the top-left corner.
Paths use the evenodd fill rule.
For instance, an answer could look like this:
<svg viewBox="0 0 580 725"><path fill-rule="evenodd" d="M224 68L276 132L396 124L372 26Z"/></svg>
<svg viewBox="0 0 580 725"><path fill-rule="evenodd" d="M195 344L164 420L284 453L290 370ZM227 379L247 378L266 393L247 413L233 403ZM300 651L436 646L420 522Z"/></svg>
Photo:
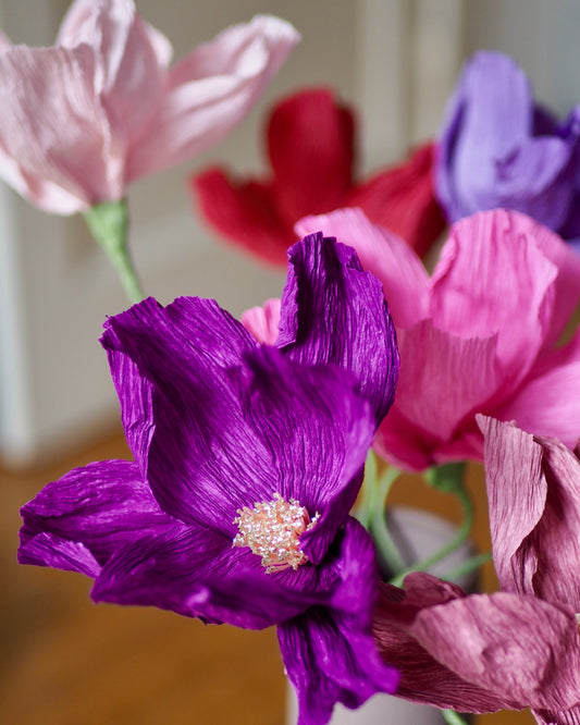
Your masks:
<svg viewBox="0 0 580 725"><path fill-rule="evenodd" d="M532 708L580 722L580 450L478 416L502 592L466 597L425 574L384 586L374 617L398 695L464 712Z"/></svg>

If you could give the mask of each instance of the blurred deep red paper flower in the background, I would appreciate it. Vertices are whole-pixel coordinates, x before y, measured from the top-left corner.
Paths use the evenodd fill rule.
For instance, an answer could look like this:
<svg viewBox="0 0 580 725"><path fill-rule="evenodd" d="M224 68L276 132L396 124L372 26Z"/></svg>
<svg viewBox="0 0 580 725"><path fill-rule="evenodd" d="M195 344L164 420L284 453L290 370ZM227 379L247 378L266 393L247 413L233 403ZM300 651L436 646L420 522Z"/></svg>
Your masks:
<svg viewBox="0 0 580 725"><path fill-rule="evenodd" d="M294 224L311 213L359 206L423 255L445 228L434 197L433 147L354 180L351 109L326 88L300 90L272 110L266 131L272 173L239 180L219 168L192 177L192 195L220 235L272 265L286 263Z"/></svg>

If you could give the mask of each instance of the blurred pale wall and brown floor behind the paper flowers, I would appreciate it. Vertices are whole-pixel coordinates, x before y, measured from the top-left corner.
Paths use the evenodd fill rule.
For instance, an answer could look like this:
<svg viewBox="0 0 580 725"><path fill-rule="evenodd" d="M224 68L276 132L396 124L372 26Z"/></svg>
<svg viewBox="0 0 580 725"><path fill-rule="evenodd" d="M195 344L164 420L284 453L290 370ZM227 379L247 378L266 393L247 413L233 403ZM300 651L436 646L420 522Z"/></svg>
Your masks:
<svg viewBox="0 0 580 725"><path fill-rule="evenodd" d="M0 0L0 27L14 42L51 45L67 5ZM259 12L288 20L303 35L262 100L221 144L129 188L133 256L145 290L163 303L210 296L237 316L280 295L285 275L215 239L192 208L186 180L211 162L240 174L264 169L264 113L291 91L330 86L358 109L363 172L436 135L461 63L477 49L514 57L536 98L556 112L580 100L578 0L136 5L171 39L176 58ZM82 577L15 564L17 509L27 499L76 465L127 455L97 342L106 317L125 307L81 217L48 216L0 185L0 722L282 725L284 677L274 632L95 607ZM484 542L477 472L473 481ZM531 722L518 717L505 722ZM493 722L499 725L501 716Z"/></svg>

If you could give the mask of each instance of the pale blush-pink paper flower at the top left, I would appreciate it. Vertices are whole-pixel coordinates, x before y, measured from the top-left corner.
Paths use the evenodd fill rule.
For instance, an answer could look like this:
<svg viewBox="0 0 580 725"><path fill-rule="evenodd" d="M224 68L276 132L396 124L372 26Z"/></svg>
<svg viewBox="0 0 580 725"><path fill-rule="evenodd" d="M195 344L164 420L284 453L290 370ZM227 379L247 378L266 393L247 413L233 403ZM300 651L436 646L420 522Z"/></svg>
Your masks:
<svg viewBox="0 0 580 725"><path fill-rule="evenodd" d="M120 200L218 142L298 39L258 15L170 67L168 39L132 0L76 0L54 47L0 46L0 175L46 211Z"/></svg>

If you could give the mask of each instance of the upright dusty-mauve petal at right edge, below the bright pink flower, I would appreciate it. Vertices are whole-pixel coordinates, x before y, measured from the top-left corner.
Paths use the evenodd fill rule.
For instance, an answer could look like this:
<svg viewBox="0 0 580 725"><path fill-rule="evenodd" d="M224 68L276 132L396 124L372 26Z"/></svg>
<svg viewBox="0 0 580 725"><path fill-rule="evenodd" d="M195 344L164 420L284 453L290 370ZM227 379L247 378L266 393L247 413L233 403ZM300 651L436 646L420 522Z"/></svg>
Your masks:
<svg viewBox="0 0 580 725"><path fill-rule="evenodd" d="M580 460L559 441L480 419L502 589L580 610Z"/></svg>

